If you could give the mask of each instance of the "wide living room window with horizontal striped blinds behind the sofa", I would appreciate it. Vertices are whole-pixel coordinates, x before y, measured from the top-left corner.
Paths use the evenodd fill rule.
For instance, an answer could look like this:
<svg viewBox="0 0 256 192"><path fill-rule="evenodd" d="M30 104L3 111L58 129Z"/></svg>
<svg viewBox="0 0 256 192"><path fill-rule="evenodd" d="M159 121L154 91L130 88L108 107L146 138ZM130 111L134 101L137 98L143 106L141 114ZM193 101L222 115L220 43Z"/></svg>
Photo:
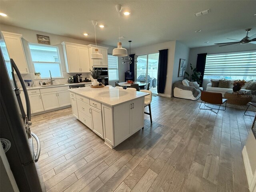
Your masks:
<svg viewBox="0 0 256 192"><path fill-rule="evenodd" d="M256 51L207 55L205 78L256 79Z"/></svg>

